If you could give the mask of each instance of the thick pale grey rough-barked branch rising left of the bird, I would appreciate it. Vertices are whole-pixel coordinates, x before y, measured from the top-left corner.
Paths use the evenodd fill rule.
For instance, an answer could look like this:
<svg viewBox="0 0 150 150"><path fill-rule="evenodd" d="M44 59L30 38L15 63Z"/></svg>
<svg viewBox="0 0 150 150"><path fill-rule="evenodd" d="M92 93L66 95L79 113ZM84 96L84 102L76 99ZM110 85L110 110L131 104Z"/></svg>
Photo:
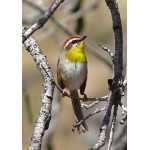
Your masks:
<svg viewBox="0 0 150 150"><path fill-rule="evenodd" d="M23 34L27 29L23 28ZM54 92L54 77L51 72L50 65L46 59L46 57L42 54L40 47L38 46L35 39L30 36L25 42L24 46L28 52L30 52L33 57L36 67L39 69L42 77L43 77L43 90L41 94L41 110L36 120L34 131L31 138L31 143L29 146L29 150L40 150L42 137L44 135L45 130L49 127L49 122L51 120L51 107L53 100L53 92ZM45 70L47 73L45 73ZM47 75L48 74L48 75Z"/></svg>

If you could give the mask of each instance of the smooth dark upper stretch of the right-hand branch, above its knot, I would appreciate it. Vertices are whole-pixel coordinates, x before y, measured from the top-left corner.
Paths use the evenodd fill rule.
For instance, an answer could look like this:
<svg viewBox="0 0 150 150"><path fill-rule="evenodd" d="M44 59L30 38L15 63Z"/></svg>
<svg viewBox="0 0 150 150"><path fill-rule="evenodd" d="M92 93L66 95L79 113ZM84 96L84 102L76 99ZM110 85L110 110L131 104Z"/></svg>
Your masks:
<svg viewBox="0 0 150 150"><path fill-rule="evenodd" d="M122 77L123 69L123 34L120 13L116 0L105 0L110 9L113 30L115 34L115 60L114 60L114 80L116 83Z"/></svg>

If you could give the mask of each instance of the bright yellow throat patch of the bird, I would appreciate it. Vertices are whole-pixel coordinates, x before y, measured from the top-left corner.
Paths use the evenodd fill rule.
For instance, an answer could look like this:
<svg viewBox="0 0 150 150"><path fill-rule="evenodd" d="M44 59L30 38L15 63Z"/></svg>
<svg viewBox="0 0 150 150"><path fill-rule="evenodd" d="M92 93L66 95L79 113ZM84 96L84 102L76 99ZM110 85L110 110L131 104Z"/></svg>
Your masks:
<svg viewBox="0 0 150 150"><path fill-rule="evenodd" d="M86 61L86 56L84 54L84 42L80 42L77 44L75 48L67 50L65 52L65 56L71 62L81 63Z"/></svg>

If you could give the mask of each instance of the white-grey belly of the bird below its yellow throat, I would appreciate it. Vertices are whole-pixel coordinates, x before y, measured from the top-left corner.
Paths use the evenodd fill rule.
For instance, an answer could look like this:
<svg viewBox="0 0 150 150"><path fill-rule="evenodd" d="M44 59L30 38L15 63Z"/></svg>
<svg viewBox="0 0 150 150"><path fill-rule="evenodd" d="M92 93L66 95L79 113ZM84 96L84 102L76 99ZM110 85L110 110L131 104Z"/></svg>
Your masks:
<svg viewBox="0 0 150 150"><path fill-rule="evenodd" d="M68 90L79 89L87 75L87 62L64 62L61 72L63 83Z"/></svg>

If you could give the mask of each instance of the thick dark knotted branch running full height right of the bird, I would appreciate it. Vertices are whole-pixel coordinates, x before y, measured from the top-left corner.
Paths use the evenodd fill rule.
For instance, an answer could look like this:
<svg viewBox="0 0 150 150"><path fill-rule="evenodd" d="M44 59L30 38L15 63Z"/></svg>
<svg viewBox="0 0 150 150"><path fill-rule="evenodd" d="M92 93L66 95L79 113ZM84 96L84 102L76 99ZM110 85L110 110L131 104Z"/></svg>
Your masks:
<svg viewBox="0 0 150 150"><path fill-rule="evenodd" d="M121 96L122 96L120 92L120 81L122 81L121 79L122 79L122 65L123 65L123 57L122 57L123 34L122 34L120 13L115 0L105 0L105 1L111 12L112 21L113 21L113 30L115 34L115 56L114 58L112 57L113 58L113 79L108 80L109 89L110 89L110 98L108 99L106 114L104 116L100 128L99 139L97 143L90 150L98 150L105 144L106 133L107 133L108 124L111 116L112 105L116 105L116 110L117 110L118 105L115 103L115 101L121 101ZM109 54L111 54L107 48L106 51ZM115 123L115 119L113 120L113 124L114 123ZM112 129L114 130L114 126L112 126ZM111 146L111 140L109 142L108 149L110 149L110 146Z"/></svg>

